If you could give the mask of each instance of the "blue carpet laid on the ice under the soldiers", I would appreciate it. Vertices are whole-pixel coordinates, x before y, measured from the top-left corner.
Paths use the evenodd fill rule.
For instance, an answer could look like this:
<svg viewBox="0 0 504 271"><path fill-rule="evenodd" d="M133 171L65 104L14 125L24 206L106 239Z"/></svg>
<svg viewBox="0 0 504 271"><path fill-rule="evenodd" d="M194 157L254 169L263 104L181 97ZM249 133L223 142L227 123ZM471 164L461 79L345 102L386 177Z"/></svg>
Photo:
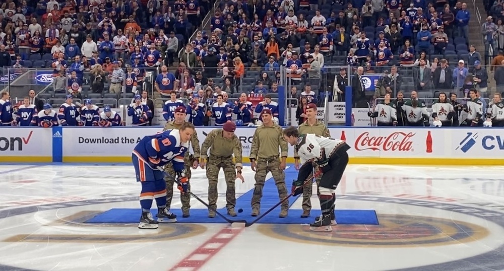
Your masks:
<svg viewBox="0 0 504 271"><path fill-rule="evenodd" d="M287 182L287 187L290 187L290 183L293 179L297 178L297 171L294 167L289 167L285 170L285 180ZM255 220L255 217L251 217L250 213L252 209L250 207L250 199L252 198L254 190L250 190L245 194L241 195L236 199L236 211L238 209L243 209L243 213L238 214L237 217L228 216L225 208L219 209L219 212L231 220L246 220L251 222ZM294 201L299 196L289 198L289 206L291 206ZM193 201L195 199L192 199ZM205 200L205 199L203 199ZM312 199L313 200L313 199ZM266 181L263 188L263 198L261 199L261 213L266 212L279 201L278 190L273 179ZM153 216L157 213L157 209L151 210ZM191 217L182 218L182 211L180 209L172 209L175 215L177 215L177 221L180 223L226 223L225 220L216 216L211 219L208 218L208 210L206 209L191 209ZM302 210L289 210L289 216L286 218L279 218L280 207L273 210L266 217L258 221L258 224L306 224L311 223L314 217L320 214L320 210L311 210L311 217L302 219L300 218ZM138 223L141 215L140 209L111 209L95 217L87 220L85 223L119 223L119 224L130 224ZM336 222L338 224L360 224L360 225L378 225L378 218L376 217L376 212L374 210L336 210Z"/></svg>

